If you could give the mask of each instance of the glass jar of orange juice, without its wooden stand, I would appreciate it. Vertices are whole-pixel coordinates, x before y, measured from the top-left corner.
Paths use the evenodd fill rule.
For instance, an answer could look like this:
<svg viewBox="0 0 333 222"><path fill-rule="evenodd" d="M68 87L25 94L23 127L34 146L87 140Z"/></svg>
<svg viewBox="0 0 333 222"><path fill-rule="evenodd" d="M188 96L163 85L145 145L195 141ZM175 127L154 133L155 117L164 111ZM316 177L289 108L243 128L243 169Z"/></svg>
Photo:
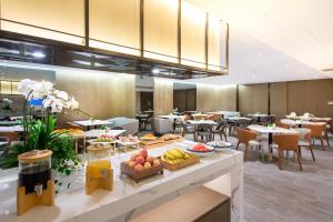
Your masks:
<svg viewBox="0 0 333 222"><path fill-rule="evenodd" d="M90 178L107 178L107 171L112 169L111 165L111 145L94 144L89 145L87 173Z"/></svg>

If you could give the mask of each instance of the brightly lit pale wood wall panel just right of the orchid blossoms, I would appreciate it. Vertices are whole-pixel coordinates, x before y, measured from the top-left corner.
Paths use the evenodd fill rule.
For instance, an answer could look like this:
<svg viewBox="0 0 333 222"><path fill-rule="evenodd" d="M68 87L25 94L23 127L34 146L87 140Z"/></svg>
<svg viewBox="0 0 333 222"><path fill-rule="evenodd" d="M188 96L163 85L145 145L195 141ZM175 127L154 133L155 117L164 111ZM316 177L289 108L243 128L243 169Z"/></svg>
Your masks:
<svg viewBox="0 0 333 222"><path fill-rule="evenodd" d="M97 119L135 115L135 77L130 74L98 73L91 71L57 71L56 84L73 95L80 109ZM59 117L62 124L87 115L68 111Z"/></svg>

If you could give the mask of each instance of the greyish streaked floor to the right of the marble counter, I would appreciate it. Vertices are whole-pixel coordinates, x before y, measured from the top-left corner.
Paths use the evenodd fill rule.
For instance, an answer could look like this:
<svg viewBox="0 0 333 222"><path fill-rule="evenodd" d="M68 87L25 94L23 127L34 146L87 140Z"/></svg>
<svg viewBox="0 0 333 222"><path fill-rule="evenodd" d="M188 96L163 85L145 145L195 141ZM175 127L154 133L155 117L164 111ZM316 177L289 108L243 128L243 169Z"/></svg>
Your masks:
<svg viewBox="0 0 333 222"><path fill-rule="evenodd" d="M186 139L193 140L191 135ZM233 144L235 138L229 138ZM333 138L330 140L333 144ZM332 222L333 221L333 148L315 147L313 162L303 150L303 171L294 162L262 161L250 152L244 165L244 219L246 222ZM243 150L243 147L240 147Z"/></svg>

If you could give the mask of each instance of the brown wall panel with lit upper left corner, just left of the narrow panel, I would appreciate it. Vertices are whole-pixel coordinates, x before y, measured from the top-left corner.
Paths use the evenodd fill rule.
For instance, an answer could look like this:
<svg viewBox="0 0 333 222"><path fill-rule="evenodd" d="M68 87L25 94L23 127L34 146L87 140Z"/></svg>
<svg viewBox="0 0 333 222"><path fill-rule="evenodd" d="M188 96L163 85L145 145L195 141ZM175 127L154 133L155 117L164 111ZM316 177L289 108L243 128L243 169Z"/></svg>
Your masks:
<svg viewBox="0 0 333 222"><path fill-rule="evenodd" d="M269 84L248 84L239 87L240 112L242 114L269 112Z"/></svg>

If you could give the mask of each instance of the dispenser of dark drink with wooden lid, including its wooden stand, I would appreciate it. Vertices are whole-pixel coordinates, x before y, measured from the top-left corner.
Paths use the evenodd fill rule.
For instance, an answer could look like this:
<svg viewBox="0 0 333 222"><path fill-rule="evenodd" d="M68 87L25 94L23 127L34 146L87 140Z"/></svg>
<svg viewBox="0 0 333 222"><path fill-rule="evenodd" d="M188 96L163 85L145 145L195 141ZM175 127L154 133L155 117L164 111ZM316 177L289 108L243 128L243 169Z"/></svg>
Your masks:
<svg viewBox="0 0 333 222"><path fill-rule="evenodd" d="M50 150L22 153L19 160L18 214L33 205L53 205L54 182L51 180Z"/></svg>

